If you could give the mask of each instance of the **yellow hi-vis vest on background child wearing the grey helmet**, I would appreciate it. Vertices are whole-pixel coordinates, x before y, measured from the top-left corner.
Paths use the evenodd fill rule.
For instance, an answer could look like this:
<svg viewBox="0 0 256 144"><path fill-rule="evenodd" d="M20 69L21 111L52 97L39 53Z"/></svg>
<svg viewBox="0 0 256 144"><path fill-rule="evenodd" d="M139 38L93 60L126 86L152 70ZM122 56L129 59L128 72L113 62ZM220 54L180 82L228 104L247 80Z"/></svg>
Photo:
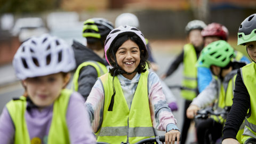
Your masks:
<svg viewBox="0 0 256 144"><path fill-rule="evenodd" d="M181 95L187 100L193 100L197 95L197 68L196 51L192 44L184 46L183 81L182 86L188 89L181 90Z"/></svg>

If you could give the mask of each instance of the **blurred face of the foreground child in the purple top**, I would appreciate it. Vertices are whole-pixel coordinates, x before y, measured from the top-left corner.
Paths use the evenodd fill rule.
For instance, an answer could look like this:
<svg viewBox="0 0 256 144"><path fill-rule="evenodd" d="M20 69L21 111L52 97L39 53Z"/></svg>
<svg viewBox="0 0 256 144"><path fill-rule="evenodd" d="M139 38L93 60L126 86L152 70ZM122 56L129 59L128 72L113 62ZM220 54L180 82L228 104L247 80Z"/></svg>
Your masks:
<svg viewBox="0 0 256 144"><path fill-rule="evenodd" d="M69 82L70 74L63 76L62 73L27 78L23 80L28 97L36 106L42 108L52 105L56 100L63 87Z"/></svg>

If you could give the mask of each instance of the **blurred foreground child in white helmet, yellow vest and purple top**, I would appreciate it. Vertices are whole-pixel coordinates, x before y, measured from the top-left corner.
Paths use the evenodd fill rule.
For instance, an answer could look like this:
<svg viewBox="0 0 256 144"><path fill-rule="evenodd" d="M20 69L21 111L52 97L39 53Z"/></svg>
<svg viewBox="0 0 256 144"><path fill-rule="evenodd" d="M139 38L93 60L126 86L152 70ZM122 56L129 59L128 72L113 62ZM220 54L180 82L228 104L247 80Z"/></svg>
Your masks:
<svg viewBox="0 0 256 144"><path fill-rule="evenodd" d="M26 95L6 104L1 143L95 143L84 99L65 89L75 68L73 50L50 35L32 37L13 59Z"/></svg>

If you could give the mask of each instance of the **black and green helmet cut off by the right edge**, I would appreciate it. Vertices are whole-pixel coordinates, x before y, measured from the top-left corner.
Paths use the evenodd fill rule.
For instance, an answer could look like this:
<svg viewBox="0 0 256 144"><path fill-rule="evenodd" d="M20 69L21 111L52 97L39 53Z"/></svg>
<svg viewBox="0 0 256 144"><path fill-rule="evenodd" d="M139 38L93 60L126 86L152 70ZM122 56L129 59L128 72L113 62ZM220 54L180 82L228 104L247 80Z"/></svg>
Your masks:
<svg viewBox="0 0 256 144"><path fill-rule="evenodd" d="M256 41L256 14L247 17L238 30L237 45Z"/></svg>

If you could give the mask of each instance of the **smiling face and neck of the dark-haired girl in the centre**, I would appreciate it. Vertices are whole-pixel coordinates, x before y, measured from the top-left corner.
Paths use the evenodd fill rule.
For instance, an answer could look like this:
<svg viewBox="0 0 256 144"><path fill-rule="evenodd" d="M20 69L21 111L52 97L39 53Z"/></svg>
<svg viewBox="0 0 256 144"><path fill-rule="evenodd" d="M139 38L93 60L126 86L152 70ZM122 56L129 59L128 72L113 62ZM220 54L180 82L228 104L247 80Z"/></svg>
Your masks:
<svg viewBox="0 0 256 144"><path fill-rule="evenodd" d="M131 39L125 41L116 52L116 60L119 67L127 73L132 73L140 63L139 46L131 41ZM124 74L123 76L132 79L135 75L136 73L132 75Z"/></svg>

